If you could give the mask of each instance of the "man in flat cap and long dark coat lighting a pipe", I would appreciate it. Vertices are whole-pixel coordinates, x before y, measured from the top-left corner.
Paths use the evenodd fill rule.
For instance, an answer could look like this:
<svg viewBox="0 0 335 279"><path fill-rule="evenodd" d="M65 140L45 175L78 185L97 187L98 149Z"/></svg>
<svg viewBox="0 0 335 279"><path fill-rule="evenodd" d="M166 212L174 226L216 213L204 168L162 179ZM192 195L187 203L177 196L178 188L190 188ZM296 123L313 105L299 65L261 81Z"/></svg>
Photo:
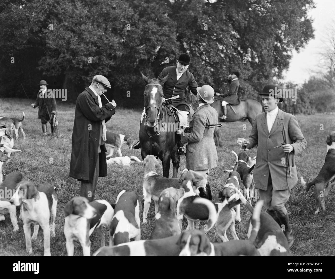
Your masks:
<svg viewBox="0 0 335 279"><path fill-rule="evenodd" d="M90 86L79 94L76 101L70 177L80 183L80 196L94 199L98 177L107 176L105 147L106 122L115 113L116 103L100 96L111 88L104 76L94 76Z"/></svg>

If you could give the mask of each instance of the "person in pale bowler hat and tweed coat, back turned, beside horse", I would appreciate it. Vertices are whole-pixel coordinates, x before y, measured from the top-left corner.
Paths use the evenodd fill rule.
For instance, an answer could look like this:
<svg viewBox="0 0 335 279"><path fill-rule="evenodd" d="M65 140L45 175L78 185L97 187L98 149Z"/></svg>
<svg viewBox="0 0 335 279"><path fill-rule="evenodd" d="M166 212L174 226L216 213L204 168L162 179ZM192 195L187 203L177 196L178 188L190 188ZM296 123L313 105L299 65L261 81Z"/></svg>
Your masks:
<svg viewBox="0 0 335 279"><path fill-rule="evenodd" d="M209 85L197 87L198 108L192 116L191 133L181 135L182 143L187 143L186 168L196 171L204 177L197 182L200 197L212 199L209 183L207 181L209 170L217 167L218 158L214 142L216 128L206 128L206 125L217 124L217 112L209 104L214 101L214 89Z"/></svg>

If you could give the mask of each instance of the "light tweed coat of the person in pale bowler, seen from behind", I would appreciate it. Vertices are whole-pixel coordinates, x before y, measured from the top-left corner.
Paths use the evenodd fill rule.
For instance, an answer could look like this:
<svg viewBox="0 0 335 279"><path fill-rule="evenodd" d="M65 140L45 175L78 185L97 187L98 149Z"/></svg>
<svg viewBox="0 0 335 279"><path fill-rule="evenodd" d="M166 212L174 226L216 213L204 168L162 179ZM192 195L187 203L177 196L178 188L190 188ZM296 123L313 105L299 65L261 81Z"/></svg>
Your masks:
<svg viewBox="0 0 335 279"><path fill-rule="evenodd" d="M182 143L187 143L186 168L193 171L217 167L218 159L214 143L214 131L218 128L205 128L217 123L217 112L209 104L196 109L190 121L191 133L181 134Z"/></svg>

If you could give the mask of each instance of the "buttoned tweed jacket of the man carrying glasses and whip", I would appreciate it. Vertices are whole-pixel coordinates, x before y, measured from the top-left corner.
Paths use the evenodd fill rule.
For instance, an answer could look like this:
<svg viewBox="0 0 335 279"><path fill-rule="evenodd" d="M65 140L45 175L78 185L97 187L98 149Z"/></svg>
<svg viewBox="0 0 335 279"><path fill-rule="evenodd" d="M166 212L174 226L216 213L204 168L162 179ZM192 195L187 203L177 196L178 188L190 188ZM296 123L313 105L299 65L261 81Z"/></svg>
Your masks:
<svg viewBox="0 0 335 279"><path fill-rule="evenodd" d="M285 127L286 144L293 146L293 151L289 153L289 162L292 166L294 155L302 152L307 145L306 139L300 130L296 118L281 109L273 123L271 131L268 130L266 121L266 112L256 115L251 134L249 136L250 144L248 149L258 144L256 165L254 168L255 187L266 190L269 174L271 173L273 190L286 190L287 183L289 189L292 189L298 181L296 165L291 167L292 177L287 172L286 183L286 156L283 148L274 148L281 146L283 142L282 130Z"/></svg>

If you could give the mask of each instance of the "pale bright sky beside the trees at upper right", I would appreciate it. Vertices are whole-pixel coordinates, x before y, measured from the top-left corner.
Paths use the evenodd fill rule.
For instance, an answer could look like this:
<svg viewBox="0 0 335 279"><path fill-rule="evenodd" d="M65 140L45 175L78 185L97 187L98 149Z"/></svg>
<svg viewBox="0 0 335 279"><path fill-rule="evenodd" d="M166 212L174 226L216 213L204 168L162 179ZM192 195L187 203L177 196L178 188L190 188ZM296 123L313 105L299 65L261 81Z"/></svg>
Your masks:
<svg viewBox="0 0 335 279"><path fill-rule="evenodd" d="M335 23L335 0L314 0L316 8L309 12L314 19L313 27L315 29L315 39L308 42L304 49L299 53L293 51L290 66L283 73L284 82L293 82L303 84L311 76L315 75L313 71L320 71L320 65L323 62L319 54L323 50L326 28Z"/></svg>

